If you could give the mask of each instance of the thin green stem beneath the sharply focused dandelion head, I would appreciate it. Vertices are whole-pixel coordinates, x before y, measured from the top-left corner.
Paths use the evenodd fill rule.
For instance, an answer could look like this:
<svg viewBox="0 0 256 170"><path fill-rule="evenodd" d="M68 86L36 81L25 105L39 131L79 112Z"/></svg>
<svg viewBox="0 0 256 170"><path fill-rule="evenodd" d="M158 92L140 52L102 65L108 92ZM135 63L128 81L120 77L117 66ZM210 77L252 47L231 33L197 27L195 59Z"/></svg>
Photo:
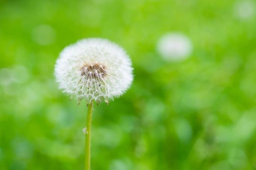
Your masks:
<svg viewBox="0 0 256 170"><path fill-rule="evenodd" d="M88 105L86 131L85 131L85 170L90 170L91 159L91 124L93 101Z"/></svg>

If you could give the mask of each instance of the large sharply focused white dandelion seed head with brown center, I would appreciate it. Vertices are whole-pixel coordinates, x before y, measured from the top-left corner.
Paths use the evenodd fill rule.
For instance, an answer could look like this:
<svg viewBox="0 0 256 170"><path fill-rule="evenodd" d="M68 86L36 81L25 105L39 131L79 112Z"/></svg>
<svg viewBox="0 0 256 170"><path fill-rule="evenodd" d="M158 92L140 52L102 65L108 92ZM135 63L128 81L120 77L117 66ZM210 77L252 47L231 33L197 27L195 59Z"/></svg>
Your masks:
<svg viewBox="0 0 256 170"><path fill-rule="evenodd" d="M60 89L72 98L108 103L130 87L132 63L123 48L107 39L89 38L60 53L55 76Z"/></svg>

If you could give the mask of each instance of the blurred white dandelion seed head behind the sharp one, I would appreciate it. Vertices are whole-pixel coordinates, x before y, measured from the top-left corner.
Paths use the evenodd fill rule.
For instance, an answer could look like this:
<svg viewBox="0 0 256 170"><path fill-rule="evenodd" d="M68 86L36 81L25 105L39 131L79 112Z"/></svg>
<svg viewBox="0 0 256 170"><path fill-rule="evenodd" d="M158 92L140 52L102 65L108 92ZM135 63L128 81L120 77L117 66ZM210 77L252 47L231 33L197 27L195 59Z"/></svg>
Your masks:
<svg viewBox="0 0 256 170"><path fill-rule="evenodd" d="M157 51L166 61L183 60L190 56L192 43L182 33L167 33L159 39Z"/></svg>

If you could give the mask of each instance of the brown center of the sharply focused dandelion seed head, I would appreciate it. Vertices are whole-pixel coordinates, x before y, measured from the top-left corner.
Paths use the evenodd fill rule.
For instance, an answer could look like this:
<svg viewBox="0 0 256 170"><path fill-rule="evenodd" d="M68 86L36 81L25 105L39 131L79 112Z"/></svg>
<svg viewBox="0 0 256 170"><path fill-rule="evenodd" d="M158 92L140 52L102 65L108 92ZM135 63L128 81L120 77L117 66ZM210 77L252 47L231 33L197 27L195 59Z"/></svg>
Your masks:
<svg viewBox="0 0 256 170"><path fill-rule="evenodd" d="M85 76L85 78L102 79L107 75L107 70L105 65L100 65L98 63L91 65L83 64L81 75Z"/></svg>

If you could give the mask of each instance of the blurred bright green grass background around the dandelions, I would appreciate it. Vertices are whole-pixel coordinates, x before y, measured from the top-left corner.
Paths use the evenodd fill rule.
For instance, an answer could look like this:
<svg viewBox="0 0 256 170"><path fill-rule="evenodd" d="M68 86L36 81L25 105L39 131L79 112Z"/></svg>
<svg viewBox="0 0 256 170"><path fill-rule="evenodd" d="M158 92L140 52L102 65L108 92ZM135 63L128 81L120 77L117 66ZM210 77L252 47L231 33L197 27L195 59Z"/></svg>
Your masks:
<svg viewBox="0 0 256 170"><path fill-rule="evenodd" d="M157 52L180 32L182 61ZM58 53L102 37L130 55L135 79L94 107L92 170L256 169L256 2L2 0L0 169L82 170L87 107L58 89Z"/></svg>

